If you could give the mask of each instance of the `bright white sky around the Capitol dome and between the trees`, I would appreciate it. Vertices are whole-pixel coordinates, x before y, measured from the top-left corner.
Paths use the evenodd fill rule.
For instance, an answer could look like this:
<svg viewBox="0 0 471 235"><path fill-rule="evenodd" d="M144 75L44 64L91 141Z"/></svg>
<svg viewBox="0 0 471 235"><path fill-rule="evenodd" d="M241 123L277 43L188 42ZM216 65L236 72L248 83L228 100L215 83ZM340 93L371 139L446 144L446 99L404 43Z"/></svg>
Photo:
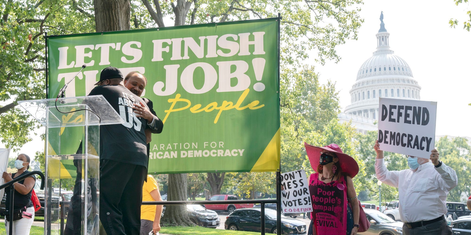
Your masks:
<svg viewBox="0 0 471 235"><path fill-rule="evenodd" d="M452 29L450 18L465 19L469 5L457 7L453 0L364 0L360 16L365 23L358 40L349 40L337 48L339 63L315 64L320 80L336 81L343 107L350 104L349 90L356 81L362 63L376 48L375 34L380 28L383 11L390 47L412 69L414 79L422 86L421 99L438 102L436 135L471 136L471 32L461 27ZM312 58L316 53L312 53ZM306 61L305 63L313 63ZM314 63L313 63L314 64ZM17 153L33 157L44 149L38 136ZM0 148L5 146L0 143Z"/></svg>

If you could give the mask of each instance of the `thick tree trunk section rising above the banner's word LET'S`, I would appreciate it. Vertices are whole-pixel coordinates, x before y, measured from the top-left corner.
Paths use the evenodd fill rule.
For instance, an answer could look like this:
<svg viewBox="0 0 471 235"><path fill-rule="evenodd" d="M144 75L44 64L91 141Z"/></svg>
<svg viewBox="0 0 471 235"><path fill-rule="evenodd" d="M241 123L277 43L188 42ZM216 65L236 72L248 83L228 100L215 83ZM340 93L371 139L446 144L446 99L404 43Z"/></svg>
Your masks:
<svg viewBox="0 0 471 235"><path fill-rule="evenodd" d="M93 0L97 32L130 29L129 0Z"/></svg>

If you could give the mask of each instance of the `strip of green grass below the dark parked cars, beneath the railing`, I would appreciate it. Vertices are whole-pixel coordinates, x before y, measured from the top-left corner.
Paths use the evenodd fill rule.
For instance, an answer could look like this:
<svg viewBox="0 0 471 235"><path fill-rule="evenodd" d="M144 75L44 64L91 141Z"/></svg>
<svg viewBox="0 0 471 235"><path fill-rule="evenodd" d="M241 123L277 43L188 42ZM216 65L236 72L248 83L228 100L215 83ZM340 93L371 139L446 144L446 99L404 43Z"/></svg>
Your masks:
<svg viewBox="0 0 471 235"><path fill-rule="evenodd" d="M260 235L255 232L222 230L207 227L162 227L162 234L173 235Z"/></svg>

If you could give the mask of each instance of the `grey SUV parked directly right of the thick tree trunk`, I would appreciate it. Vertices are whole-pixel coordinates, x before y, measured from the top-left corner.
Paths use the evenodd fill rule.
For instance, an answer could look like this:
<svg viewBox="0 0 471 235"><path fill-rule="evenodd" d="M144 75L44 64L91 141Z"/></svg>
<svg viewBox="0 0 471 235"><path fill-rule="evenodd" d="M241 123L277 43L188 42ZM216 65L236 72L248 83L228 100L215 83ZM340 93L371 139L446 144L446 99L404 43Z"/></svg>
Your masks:
<svg viewBox="0 0 471 235"><path fill-rule="evenodd" d="M201 205L187 205L187 211L190 220L198 226L216 228L221 222L218 213Z"/></svg>

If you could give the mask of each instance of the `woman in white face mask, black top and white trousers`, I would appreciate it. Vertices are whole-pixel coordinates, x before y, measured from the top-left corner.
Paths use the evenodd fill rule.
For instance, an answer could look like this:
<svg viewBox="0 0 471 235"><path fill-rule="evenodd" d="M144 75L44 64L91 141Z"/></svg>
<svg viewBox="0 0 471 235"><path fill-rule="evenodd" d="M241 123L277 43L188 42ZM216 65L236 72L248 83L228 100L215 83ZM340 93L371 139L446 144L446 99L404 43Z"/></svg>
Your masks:
<svg viewBox="0 0 471 235"><path fill-rule="evenodd" d="M26 154L20 154L18 157L16 157L15 161L15 168L18 169L18 172L16 173L7 173L3 172L2 178L5 180L5 183L15 179L16 177L19 177L20 175L23 175L28 171L29 169L29 164L31 162L31 158L28 157ZM6 214L9 215L9 211L12 209L14 213L18 211L21 212L21 217L9 219L5 219L5 227L6 227L6 232L9 234L9 228L10 228L10 220L13 220L13 235L29 235L30 229L32 222L34 220L34 207L32 205L31 201L31 194L32 194L32 188L34 187L34 184L36 182L36 178L34 175L31 177L28 177L24 180L20 180L13 185L15 186L15 191L13 193L13 208L8 208L8 205L10 204L10 200L12 200L12 195L10 195L10 187L5 188L5 193L7 194L7 200L6 200L6 205L7 205L7 212ZM9 216L8 216L9 217ZM16 219L16 220L15 220Z"/></svg>

